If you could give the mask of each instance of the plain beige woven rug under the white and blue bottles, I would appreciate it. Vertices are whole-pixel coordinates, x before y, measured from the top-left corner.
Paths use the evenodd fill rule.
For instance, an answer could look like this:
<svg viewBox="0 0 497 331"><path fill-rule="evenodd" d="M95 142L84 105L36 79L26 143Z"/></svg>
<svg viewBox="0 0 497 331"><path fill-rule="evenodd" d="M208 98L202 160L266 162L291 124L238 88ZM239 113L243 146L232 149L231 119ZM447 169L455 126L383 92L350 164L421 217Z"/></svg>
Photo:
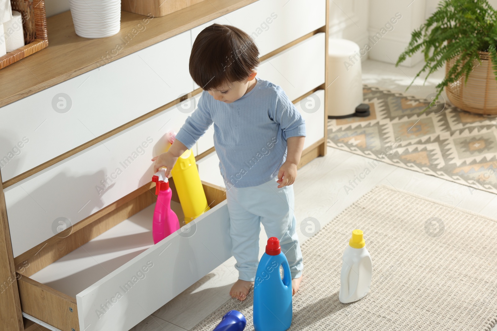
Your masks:
<svg viewBox="0 0 497 331"><path fill-rule="evenodd" d="M338 301L341 257L364 231L371 290ZM302 246L304 271L290 331L490 331L497 324L497 222L464 209L377 186ZM252 292L229 300L192 331L212 331L229 310L252 331Z"/></svg>

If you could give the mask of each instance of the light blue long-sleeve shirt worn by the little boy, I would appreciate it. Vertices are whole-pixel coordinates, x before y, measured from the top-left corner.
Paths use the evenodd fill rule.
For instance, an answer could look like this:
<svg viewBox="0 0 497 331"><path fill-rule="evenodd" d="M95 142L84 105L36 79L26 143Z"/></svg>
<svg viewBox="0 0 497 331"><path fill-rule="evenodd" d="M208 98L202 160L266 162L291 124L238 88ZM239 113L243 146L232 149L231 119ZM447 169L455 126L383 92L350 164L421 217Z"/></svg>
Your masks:
<svg viewBox="0 0 497 331"><path fill-rule="evenodd" d="M306 135L305 121L283 89L256 79L252 90L229 104L203 91L197 109L176 134L190 149L214 123L221 175L237 188L258 186L277 176L286 159L286 139Z"/></svg>

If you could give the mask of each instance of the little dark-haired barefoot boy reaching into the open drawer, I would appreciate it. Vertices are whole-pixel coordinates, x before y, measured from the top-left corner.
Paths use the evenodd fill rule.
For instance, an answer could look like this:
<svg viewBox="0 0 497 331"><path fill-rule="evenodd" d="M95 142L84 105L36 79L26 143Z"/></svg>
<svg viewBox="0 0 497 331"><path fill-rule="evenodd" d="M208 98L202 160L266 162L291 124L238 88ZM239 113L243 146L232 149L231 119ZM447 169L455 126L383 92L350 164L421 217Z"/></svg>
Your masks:
<svg viewBox="0 0 497 331"><path fill-rule="evenodd" d="M277 237L290 265L293 294L302 279L295 232L293 182L304 146L305 123L278 85L255 78L259 51L244 31L213 24L200 32L190 55L190 75L204 90L154 172L170 176L178 156L214 123L214 146L226 184L230 236L239 280L230 295L244 300L258 264L260 223Z"/></svg>

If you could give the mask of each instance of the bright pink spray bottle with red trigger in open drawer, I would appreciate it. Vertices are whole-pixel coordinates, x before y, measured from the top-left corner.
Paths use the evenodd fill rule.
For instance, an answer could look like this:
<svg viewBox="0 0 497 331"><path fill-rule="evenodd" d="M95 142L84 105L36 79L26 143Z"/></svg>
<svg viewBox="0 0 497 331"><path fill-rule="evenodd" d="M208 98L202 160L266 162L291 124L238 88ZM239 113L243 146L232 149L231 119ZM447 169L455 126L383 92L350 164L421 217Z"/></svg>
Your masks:
<svg viewBox="0 0 497 331"><path fill-rule="evenodd" d="M172 191L166 177L166 169L160 169L152 177L156 183L157 202L152 223L152 237L157 244L168 235L179 229L178 216L171 210Z"/></svg>

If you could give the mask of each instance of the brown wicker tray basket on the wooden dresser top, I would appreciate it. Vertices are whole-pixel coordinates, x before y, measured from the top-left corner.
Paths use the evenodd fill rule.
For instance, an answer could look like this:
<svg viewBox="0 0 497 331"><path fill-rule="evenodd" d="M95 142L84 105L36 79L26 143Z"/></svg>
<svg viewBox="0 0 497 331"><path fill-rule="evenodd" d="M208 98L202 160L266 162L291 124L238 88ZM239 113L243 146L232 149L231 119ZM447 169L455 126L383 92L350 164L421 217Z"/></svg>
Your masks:
<svg viewBox="0 0 497 331"><path fill-rule="evenodd" d="M24 46L0 57L0 69L48 46L44 0L10 0L12 10L22 15Z"/></svg>

